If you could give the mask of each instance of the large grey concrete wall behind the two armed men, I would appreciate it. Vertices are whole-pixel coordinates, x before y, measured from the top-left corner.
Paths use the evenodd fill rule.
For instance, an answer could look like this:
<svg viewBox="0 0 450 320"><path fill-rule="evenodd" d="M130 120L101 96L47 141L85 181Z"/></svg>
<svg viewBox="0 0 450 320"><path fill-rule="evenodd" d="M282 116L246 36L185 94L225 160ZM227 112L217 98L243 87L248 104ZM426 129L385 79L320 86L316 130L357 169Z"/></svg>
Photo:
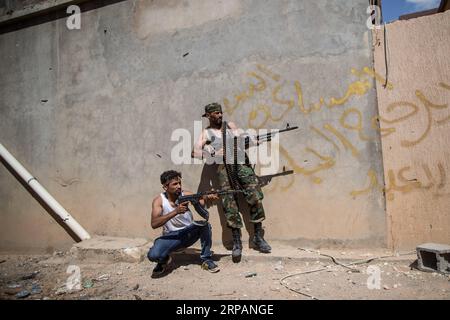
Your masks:
<svg viewBox="0 0 450 320"><path fill-rule="evenodd" d="M301 128L280 141L295 176L264 189L268 239L384 245L384 197L360 192L368 173L383 179L366 7L124 1L83 12L80 30L58 19L4 33L1 143L91 234L153 238L162 171L182 171L187 189L209 183L203 165L172 164L171 134L194 134L219 101L243 128ZM220 245L228 230L211 210ZM72 243L5 168L0 215L2 249Z"/></svg>

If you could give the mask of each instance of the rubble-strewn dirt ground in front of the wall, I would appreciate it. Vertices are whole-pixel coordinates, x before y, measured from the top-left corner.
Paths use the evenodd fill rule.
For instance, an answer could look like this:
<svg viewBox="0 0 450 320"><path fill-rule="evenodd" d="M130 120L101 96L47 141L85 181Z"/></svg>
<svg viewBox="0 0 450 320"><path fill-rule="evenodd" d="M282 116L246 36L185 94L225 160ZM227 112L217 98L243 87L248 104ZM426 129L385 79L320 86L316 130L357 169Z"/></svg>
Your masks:
<svg viewBox="0 0 450 320"><path fill-rule="evenodd" d="M62 252L0 255L0 299L450 299L450 276L414 269L413 258L376 259L349 269L314 253L298 259L244 252L237 264L229 254L215 254L221 270L213 274L200 268L198 251L189 250L174 254L169 273L158 279L151 278L155 264L148 260L76 262ZM304 273L317 269L324 270Z"/></svg>

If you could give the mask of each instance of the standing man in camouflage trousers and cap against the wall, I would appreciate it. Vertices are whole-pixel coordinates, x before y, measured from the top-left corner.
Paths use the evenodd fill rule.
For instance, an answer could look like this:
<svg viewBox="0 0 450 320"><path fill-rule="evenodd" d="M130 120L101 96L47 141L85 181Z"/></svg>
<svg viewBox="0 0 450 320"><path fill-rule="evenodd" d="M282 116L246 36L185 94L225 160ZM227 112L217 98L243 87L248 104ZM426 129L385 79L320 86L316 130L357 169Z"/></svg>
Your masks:
<svg viewBox="0 0 450 320"><path fill-rule="evenodd" d="M230 149L231 154L233 154L233 145L230 145L227 141L230 141L230 137L239 136L240 130L233 122L228 122L226 128L224 127L222 106L218 103L205 106L203 117L209 120L209 126L201 133L192 151L192 157L207 159L208 163L211 163L212 160L212 163L217 164L217 176L221 189L240 188L244 191L245 200L250 206L250 222L253 223L255 228L255 236L252 239L253 245L260 252L270 253L272 248L263 238L262 221L265 219L265 213L262 199L264 195L259 186L258 178L248 163L232 164L235 159L230 156ZM223 148L224 130L226 130L225 152ZM230 172L231 170L232 172ZM229 194L222 196L221 200L227 226L231 228L233 235L232 258L234 262L239 262L242 255L241 228L243 224L237 198L235 195Z"/></svg>

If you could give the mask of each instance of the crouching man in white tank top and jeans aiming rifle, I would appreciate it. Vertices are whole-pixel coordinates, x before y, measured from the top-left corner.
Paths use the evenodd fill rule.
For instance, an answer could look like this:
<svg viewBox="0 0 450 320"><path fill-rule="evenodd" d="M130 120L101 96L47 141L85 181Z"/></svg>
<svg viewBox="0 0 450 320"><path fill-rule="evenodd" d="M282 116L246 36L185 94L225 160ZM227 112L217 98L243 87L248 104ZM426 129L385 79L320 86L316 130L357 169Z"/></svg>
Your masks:
<svg viewBox="0 0 450 320"><path fill-rule="evenodd" d="M152 228L163 228L162 236L155 240L147 255L150 261L157 262L152 277L165 274L171 262L170 253L190 247L199 239L202 269L210 272L219 271L219 267L211 259L211 225L206 221L202 224L194 223L187 202L175 204L180 195L192 194L182 190L181 173L174 170L163 172L161 184L164 192L156 196L152 203ZM217 195L208 195L205 198L219 199ZM200 199L199 202L201 206L205 205L205 199Z"/></svg>

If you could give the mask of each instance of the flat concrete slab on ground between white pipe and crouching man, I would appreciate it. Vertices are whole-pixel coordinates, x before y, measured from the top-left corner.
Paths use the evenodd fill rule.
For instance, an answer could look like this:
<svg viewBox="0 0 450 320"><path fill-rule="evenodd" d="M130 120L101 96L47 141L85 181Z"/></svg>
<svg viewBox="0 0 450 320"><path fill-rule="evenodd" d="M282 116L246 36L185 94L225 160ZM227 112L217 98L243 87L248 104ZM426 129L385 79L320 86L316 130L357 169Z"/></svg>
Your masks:
<svg viewBox="0 0 450 320"><path fill-rule="evenodd" d="M148 249L149 240L97 236L75 244L71 254L81 261L141 262Z"/></svg>

